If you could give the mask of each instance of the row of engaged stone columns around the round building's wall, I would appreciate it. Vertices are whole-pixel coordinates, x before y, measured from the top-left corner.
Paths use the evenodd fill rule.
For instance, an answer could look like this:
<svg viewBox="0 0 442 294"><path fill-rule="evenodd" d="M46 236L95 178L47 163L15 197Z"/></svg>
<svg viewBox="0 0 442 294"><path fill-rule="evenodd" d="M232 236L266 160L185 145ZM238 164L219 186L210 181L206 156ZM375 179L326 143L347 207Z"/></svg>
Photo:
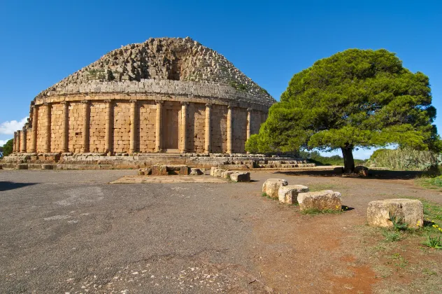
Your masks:
<svg viewBox="0 0 442 294"><path fill-rule="evenodd" d="M113 152L113 102L105 100L106 103L106 127L105 127L105 151L106 153ZM90 152L90 101L85 100L83 103L83 142L81 151L83 153ZM137 137L136 132L138 128L138 115L136 100L130 100L130 144L129 152L135 153L137 151ZM155 124L155 152L162 152L163 146L163 101L157 101L157 113ZM45 140L43 151L50 153L51 148L51 106L49 103L43 104L45 106ZM63 105L63 121L62 121L62 152L69 152L69 103L62 102ZM181 148L180 152L187 152L187 116L188 116L189 102L181 102ZM38 107L33 107L32 129L31 129L31 146L29 148L31 153L37 150L37 125L38 125ZM206 118L204 127L204 153L211 153L211 108L212 104L206 104ZM227 153L232 153L233 150L233 106L228 107L227 111ZM251 113L252 109L247 109L247 139L251 134ZM263 114L264 118L266 115ZM14 132L13 152L27 151L27 133L26 130Z"/></svg>

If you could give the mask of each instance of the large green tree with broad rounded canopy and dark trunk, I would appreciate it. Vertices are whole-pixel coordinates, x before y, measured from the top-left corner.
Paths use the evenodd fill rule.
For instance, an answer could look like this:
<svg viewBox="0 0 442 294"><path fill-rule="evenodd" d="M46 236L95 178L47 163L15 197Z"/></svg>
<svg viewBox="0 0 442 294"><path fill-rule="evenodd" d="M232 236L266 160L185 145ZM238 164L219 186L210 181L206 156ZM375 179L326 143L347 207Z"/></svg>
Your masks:
<svg viewBox="0 0 442 294"><path fill-rule="evenodd" d="M341 149L346 171L354 148L398 144L441 150L429 78L387 50L349 49L296 73L273 104L250 152Z"/></svg>

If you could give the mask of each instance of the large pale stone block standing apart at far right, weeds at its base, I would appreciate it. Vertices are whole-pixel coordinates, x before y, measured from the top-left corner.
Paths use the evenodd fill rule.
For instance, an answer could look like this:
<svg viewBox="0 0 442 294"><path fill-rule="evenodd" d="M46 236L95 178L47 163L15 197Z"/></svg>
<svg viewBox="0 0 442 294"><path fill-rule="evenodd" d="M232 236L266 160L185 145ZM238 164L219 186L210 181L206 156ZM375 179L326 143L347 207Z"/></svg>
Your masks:
<svg viewBox="0 0 442 294"><path fill-rule="evenodd" d="M408 228L424 225L424 207L419 200L388 199L369 202L367 221L372 227L392 228L391 217L401 218Z"/></svg>

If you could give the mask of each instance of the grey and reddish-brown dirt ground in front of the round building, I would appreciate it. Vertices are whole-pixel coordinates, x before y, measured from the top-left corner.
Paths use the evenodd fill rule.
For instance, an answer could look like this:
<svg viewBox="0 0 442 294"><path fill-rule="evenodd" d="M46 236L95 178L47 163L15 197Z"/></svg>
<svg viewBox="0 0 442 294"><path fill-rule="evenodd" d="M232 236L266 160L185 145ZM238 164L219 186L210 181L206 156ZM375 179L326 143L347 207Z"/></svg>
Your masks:
<svg viewBox="0 0 442 294"><path fill-rule="evenodd" d="M372 200L442 204L413 176L108 184L134 173L0 171L0 292L442 293L442 250L366 226ZM341 192L349 209L301 214L261 196L269 178Z"/></svg>

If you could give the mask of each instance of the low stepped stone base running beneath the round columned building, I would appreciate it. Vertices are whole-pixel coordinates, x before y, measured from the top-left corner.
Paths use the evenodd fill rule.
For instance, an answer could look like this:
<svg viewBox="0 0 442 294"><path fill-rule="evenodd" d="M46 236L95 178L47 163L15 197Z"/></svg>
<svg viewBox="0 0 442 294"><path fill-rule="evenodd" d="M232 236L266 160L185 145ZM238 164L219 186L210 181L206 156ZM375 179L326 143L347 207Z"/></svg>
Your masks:
<svg viewBox="0 0 442 294"><path fill-rule="evenodd" d="M253 168L304 168L314 167L299 158L267 157L247 154L167 154L167 153L13 153L0 160L3 168L27 165L29 169L140 169L153 165L187 165L210 169L253 169ZM47 169L48 167L46 167Z"/></svg>

